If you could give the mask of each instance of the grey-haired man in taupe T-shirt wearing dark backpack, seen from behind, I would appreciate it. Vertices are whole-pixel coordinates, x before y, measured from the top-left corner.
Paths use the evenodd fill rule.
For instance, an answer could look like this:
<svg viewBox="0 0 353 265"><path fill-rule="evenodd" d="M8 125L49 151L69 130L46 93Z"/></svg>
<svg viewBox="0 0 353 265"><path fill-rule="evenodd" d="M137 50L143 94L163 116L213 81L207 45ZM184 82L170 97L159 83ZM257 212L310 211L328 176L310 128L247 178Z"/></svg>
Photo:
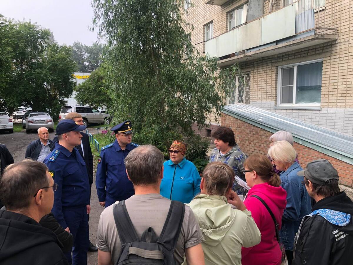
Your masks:
<svg viewBox="0 0 353 265"><path fill-rule="evenodd" d="M101 214L98 264L204 265L202 232L189 206L160 195L164 157L151 145L125 158L135 195L116 201Z"/></svg>

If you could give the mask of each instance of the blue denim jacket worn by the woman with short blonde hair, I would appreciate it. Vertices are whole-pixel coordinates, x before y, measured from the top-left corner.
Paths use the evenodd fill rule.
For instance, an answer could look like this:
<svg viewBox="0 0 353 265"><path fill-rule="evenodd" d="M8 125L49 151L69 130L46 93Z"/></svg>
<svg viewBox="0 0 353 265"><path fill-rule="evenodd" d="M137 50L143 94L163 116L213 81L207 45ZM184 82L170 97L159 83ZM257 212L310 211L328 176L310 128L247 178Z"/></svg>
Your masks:
<svg viewBox="0 0 353 265"><path fill-rule="evenodd" d="M303 177L297 172L303 170L294 162L286 171L280 173L281 186L287 192L287 206L282 216L281 238L286 250L293 251L294 236L301 219L311 212L310 197L301 182Z"/></svg>

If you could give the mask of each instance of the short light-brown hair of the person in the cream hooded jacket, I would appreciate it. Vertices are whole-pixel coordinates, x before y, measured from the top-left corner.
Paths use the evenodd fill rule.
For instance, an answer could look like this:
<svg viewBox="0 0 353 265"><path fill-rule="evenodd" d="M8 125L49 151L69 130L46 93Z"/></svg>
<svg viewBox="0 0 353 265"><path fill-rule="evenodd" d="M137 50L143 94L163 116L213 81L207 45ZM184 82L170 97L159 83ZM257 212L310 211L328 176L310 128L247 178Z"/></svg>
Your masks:
<svg viewBox="0 0 353 265"><path fill-rule="evenodd" d="M205 180L204 188L207 194L226 196L232 187L234 172L227 164L211 162L205 167L202 177Z"/></svg>

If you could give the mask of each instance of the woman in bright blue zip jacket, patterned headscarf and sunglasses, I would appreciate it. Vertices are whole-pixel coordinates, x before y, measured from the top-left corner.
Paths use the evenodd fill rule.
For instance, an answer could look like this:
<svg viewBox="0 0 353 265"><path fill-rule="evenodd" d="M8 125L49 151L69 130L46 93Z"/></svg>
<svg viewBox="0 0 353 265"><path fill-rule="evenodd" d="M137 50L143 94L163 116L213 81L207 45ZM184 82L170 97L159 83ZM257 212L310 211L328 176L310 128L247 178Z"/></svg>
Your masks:
<svg viewBox="0 0 353 265"><path fill-rule="evenodd" d="M185 158L186 143L176 140L168 151L170 159L163 164L161 195L170 200L189 203L200 193L201 177L196 166Z"/></svg>

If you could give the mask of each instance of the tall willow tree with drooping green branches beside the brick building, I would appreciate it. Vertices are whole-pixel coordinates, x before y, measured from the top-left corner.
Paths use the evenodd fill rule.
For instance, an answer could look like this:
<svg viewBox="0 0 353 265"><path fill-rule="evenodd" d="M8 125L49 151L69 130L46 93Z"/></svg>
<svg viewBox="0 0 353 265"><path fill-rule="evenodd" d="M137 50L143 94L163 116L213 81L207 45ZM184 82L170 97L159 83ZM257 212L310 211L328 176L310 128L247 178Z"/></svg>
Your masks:
<svg viewBox="0 0 353 265"><path fill-rule="evenodd" d="M183 1L93 0L94 25L108 42L106 60L116 121L131 119L147 142L193 134L220 116L229 72L190 42Z"/></svg>

